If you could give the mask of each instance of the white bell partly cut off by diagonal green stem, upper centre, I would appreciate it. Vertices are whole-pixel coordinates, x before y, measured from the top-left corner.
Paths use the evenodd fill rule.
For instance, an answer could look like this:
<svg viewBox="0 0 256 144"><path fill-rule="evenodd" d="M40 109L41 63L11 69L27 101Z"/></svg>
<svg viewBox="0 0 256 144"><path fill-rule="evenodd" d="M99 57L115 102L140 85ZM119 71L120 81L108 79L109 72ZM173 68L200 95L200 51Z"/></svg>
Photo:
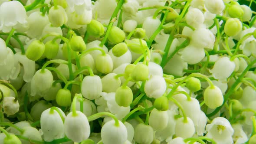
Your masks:
<svg viewBox="0 0 256 144"><path fill-rule="evenodd" d="M158 29L158 26L161 24L161 21L158 18L153 18L152 16L147 17L144 20L142 28L146 30L146 36L150 38L153 33Z"/></svg>

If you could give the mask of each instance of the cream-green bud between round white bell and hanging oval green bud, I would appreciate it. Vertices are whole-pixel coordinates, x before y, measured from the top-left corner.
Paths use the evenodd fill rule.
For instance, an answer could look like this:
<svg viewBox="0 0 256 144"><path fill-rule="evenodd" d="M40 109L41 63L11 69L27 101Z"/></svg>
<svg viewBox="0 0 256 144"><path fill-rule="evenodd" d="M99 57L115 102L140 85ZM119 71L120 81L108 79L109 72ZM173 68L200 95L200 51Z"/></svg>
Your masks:
<svg viewBox="0 0 256 144"><path fill-rule="evenodd" d="M102 91L115 92L121 86L121 79L115 78L115 73L109 73L102 78Z"/></svg>

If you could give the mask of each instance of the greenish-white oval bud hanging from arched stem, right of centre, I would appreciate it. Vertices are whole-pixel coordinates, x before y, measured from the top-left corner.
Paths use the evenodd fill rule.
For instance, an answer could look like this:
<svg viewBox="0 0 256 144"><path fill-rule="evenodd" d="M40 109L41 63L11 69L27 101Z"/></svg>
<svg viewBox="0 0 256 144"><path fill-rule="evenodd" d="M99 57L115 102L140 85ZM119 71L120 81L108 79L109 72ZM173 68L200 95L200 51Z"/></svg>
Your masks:
<svg viewBox="0 0 256 144"><path fill-rule="evenodd" d="M211 109L215 109L223 104L223 95L217 86L209 86L204 90L203 99L205 105Z"/></svg>

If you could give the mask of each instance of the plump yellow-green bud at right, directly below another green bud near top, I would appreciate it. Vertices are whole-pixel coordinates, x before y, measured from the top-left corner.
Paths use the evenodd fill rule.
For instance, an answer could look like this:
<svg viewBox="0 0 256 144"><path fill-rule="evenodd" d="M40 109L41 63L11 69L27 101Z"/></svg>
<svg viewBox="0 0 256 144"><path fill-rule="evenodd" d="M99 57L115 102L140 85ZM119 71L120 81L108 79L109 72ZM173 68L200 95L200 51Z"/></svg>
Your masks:
<svg viewBox="0 0 256 144"><path fill-rule="evenodd" d="M242 30L242 23L237 18L230 18L226 21L224 32L228 36L235 36Z"/></svg>

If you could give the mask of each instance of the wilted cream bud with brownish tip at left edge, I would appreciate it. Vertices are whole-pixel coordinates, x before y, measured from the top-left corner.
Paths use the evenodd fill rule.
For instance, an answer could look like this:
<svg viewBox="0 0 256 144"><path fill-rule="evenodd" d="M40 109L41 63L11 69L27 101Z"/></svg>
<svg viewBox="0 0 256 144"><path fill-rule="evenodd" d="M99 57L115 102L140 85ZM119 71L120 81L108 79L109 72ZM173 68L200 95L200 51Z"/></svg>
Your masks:
<svg viewBox="0 0 256 144"><path fill-rule="evenodd" d="M14 97L3 97L3 113L7 114L7 116L14 115L19 111L19 102L14 100Z"/></svg>

